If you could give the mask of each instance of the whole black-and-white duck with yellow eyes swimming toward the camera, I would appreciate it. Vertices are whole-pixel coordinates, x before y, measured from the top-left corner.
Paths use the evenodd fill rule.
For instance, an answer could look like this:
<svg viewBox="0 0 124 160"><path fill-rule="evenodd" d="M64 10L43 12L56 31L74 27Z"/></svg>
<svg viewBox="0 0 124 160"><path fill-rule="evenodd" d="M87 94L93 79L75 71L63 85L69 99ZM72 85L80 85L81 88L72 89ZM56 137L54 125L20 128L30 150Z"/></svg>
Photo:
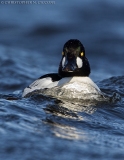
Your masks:
<svg viewBox="0 0 124 160"><path fill-rule="evenodd" d="M85 48L78 39L68 40L62 50L62 58L58 73L48 73L36 79L23 91L22 97L38 90L58 88L68 90L67 93L101 93L99 87L89 77L91 68L85 55ZM57 92L58 92L57 91Z"/></svg>

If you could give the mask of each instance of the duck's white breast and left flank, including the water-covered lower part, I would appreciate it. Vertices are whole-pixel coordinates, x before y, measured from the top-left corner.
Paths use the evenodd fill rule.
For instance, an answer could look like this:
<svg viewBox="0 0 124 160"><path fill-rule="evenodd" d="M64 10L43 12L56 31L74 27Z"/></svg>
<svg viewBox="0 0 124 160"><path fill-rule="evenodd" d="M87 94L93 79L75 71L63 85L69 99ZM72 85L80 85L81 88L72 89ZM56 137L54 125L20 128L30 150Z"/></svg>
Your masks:
<svg viewBox="0 0 124 160"><path fill-rule="evenodd" d="M44 90L48 88L47 90ZM52 82L50 77L38 79L25 88L23 97L38 90L39 94L66 99L90 99L102 95L99 87L89 77L65 77Z"/></svg>

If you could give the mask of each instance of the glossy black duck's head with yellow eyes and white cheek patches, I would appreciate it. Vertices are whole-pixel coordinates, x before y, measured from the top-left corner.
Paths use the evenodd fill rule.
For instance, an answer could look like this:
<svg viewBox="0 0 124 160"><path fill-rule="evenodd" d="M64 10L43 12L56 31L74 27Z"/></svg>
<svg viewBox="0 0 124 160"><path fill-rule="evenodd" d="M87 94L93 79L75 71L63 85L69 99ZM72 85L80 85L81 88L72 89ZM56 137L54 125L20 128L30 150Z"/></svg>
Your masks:
<svg viewBox="0 0 124 160"><path fill-rule="evenodd" d="M90 65L79 40L70 39L65 43L58 72L62 77L89 76Z"/></svg>

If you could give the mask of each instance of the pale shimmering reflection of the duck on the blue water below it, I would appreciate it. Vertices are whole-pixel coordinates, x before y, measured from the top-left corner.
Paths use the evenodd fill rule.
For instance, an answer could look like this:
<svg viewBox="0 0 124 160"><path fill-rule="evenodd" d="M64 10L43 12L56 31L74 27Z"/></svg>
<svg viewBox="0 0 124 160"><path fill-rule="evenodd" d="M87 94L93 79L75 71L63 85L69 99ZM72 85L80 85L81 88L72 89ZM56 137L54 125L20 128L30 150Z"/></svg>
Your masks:
<svg viewBox="0 0 124 160"><path fill-rule="evenodd" d="M51 126L51 132L60 138L87 141L88 132L80 127L76 128L73 123L86 123L86 115L83 116L80 113L93 114L97 108L60 100L56 100L55 103L57 104L48 105L44 109L47 113L44 122Z"/></svg>

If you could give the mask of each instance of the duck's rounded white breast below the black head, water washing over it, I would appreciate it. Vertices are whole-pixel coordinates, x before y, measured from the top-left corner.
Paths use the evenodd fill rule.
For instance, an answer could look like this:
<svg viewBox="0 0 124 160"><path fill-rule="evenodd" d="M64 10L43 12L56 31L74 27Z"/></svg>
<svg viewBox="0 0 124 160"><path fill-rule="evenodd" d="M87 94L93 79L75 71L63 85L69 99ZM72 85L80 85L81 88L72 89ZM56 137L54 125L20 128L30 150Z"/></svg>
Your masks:
<svg viewBox="0 0 124 160"><path fill-rule="evenodd" d="M103 98L103 93L89 77L62 78L56 87L41 90L40 94L71 101L74 99L89 101Z"/></svg>

